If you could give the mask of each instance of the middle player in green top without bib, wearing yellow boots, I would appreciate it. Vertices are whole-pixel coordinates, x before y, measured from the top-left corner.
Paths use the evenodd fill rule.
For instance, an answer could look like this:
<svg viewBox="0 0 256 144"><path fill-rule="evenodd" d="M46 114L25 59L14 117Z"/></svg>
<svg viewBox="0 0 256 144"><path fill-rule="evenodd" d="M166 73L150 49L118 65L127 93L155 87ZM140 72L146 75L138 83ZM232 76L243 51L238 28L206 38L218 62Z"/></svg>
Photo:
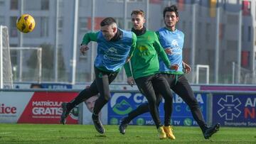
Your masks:
<svg viewBox="0 0 256 144"><path fill-rule="evenodd" d="M132 32L137 35L136 49L134 55L131 58L131 67L129 63L124 65L125 72L127 73L128 84L134 84L136 82L139 91L146 96L149 102L149 111L156 125L159 133L159 138L166 138L166 134L171 138L175 138L171 133L170 121L172 109L170 105L173 104L173 97L171 95L171 89L164 77L159 74L159 60L161 57L166 67L169 69L177 70L178 65L171 65L166 52L161 47L157 35L154 31L147 31L144 27L145 18L144 11L135 10L132 11ZM131 71L132 69L132 71ZM159 92L165 99L164 103L164 126L161 125L159 118L158 106L156 106L155 89L152 85L155 85L155 89L159 89ZM166 133L169 131L169 133Z"/></svg>

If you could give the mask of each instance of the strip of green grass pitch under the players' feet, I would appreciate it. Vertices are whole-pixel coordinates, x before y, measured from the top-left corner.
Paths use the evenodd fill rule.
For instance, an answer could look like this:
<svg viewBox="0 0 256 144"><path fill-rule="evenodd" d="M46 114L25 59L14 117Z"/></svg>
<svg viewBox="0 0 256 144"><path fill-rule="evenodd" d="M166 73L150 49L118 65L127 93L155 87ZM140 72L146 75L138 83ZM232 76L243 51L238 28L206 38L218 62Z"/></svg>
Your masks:
<svg viewBox="0 0 256 144"><path fill-rule="evenodd" d="M100 135L94 126L0 124L0 143L256 143L256 128L220 128L205 140L198 127L174 127L176 140L159 140L154 126L128 126L122 135L118 126L105 126Z"/></svg>

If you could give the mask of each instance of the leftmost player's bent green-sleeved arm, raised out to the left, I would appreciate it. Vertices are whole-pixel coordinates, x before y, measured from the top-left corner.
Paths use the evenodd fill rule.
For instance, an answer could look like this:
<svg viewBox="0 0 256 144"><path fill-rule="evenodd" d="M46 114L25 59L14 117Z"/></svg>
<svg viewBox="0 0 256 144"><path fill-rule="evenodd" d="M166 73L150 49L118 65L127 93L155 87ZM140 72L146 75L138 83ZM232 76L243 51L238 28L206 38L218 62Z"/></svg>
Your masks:
<svg viewBox="0 0 256 144"><path fill-rule="evenodd" d="M90 43L90 41L97 41L97 35L99 35L100 31L96 32L96 33L85 33L84 37L82 38L82 43L80 46L80 52L82 53L82 55L85 55L85 52L87 50L89 50L88 48L88 43Z"/></svg>

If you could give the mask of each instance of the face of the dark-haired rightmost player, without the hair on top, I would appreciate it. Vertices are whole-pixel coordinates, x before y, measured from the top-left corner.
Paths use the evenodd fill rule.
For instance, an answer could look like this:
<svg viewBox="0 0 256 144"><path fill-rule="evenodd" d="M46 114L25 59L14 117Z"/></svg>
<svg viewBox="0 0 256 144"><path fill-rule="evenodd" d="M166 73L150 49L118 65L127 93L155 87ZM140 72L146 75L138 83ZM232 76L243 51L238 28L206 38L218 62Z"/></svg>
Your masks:
<svg viewBox="0 0 256 144"><path fill-rule="evenodd" d="M164 16L164 23L167 28L175 28L176 23L178 22L178 17L174 11L166 11Z"/></svg>

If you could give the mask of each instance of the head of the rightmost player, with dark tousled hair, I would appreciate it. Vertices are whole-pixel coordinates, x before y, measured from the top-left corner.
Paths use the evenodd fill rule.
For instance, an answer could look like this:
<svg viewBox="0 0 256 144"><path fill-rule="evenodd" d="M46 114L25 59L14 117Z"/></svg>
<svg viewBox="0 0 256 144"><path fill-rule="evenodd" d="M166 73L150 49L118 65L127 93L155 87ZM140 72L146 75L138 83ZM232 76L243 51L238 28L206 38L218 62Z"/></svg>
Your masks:
<svg viewBox="0 0 256 144"><path fill-rule="evenodd" d="M172 28L176 26L178 22L178 8L175 5L167 6L163 11L164 23L167 28Z"/></svg>

